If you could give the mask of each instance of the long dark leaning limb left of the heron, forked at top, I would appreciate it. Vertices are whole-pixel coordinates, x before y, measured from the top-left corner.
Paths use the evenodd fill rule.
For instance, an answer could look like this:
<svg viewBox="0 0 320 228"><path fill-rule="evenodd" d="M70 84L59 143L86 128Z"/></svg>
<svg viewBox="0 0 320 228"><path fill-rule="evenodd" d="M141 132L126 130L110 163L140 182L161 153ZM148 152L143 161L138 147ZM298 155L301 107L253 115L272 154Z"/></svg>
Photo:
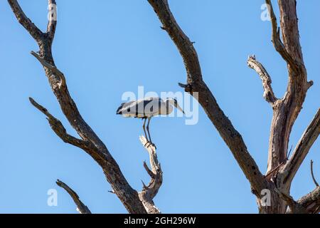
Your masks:
<svg viewBox="0 0 320 228"><path fill-rule="evenodd" d="M47 29L48 32L50 32L50 36L48 36L48 34L43 36L41 31L39 31L38 28L36 28L36 26L34 26L31 21L26 18L26 15L23 13L16 0L8 0L8 2L18 21L29 33L31 33L33 38L36 39L40 48L39 55L34 52L32 52L32 54L43 65L53 93L60 103L61 110L65 114L65 117L68 119L70 125L76 130L78 135L80 135L82 141L72 138L70 135L66 134L62 124L60 124L60 121L58 122L58 120L55 118L50 117L48 112L44 111L45 109L43 109L42 106L36 105L36 103L33 103L33 105L35 105L39 110L42 110L43 113L48 116L49 122L51 120L50 124L53 125L51 127L53 127L53 130L55 130L55 133L57 133L60 138L62 137L67 142L72 142L73 144L79 144L83 141L90 144L90 148L82 149L91 155L91 157L100 165L100 167L102 167L105 177L110 183L112 190L114 190L115 194L122 201L124 207L126 207L129 213L146 213L144 204L142 204L141 200L139 199L138 192L129 185L122 174L119 165L117 165L117 162L114 160L109 150L107 150L105 144L100 140L100 138L97 137L95 132L90 128L85 120L83 120L77 105L70 96L63 73L61 73L58 68L55 67L51 51L51 43L55 33L56 22L50 24L49 21ZM50 3L53 4L55 1L49 1L49 4ZM91 145L93 145L93 148Z"/></svg>

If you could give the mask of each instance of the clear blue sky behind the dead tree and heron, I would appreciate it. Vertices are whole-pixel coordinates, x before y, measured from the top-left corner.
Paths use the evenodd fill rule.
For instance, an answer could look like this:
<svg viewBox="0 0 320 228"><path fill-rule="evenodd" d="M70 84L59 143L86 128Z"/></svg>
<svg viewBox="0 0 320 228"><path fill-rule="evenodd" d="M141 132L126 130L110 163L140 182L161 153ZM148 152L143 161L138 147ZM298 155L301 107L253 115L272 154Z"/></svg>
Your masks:
<svg viewBox="0 0 320 228"><path fill-rule="evenodd" d="M47 1L20 0L43 31ZM61 1L53 43L55 63L67 78L82 117L105 142L134 189L149 182L139 142L142 121L115 115L125 92L183 92L186 71L176 46L147 1ZM255 54L272 77L277 97L287 87L287 67L271 43L270 21L262 21L263 0L171 0L171 11L198 51L203 79L233 122L261 172L267 168L272 108L262 83L247 67ZM320 1L298 1L299 31L308 78L314 81L289 142L295 146L320 106ZM276 1L274 10L279 16ZM7 1L0 1L0 213L77 213L60 179L94 213L127 213L101 168L82 150L65 144L28 97L48 108L68 133L43 68L31 56L36 42L18 24ZM164 213L257 213L250 184L203 109L198 123L186 118L154 118L150 131L164 172L154 202ZM294 199L314 190L309 161L320 180L320 140L314 143L292 184ZM48 191L57 191L57 206Z"/></svg>

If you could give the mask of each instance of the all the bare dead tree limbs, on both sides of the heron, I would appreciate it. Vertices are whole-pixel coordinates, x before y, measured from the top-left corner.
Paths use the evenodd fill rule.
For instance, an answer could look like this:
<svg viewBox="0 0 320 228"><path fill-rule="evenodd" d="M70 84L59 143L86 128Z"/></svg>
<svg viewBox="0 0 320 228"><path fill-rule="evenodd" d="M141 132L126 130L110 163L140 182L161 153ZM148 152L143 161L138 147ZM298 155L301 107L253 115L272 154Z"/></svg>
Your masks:
<svg viewBox="0 0 320 228"><path fill-rule="evenodd" d="M273 118L269 140L267 172L262 175L255 160L247 150L242 136L234 128L231 121L223 113L206 83L203 81L201 66L198 60L193 42L183 33L178 26L174 15L171 13L168 0L148 0L159 17L162 29L166 31L176 44L181 53L186 67L186 84L180 83L187 93L196 97L208 118L220 133L221 138L228 145L235 160L249 180L252 193L257 197L257 204L260 213L319 213L320 212L320 187L316 183L316 189L301 199L295 201L290 195L290 187L294 175L304 161L310 147L313 145L320 133L320 109L314 119L304 131L302 138L297 143L291 157L287 157L289 136L297 116L302 110L302 104L306 98L307 90L312 86L312 81L307 81L306 68L302 56L302 48L299 43L298 19L295 0L278 0L280 9L280 26L277 25L277 18L272 9L270 0L266 3L270 6L270 17L272 22L272 42L275 50L287 63L289 83L287 91L282 98L274 95L271 86L271 77L266 69L258 62L255 56L250 56L247 65L254 69L262 80L264 89L263 96L270 103L273 110ZM109 150L97 137L85 120L82 119L75 102L70 97L65 82L65 76L55 67L51 53L51 45L55 34L56 21L49 21L47 31L40 31L30 19L23 14L21 7L16 0L8 0L11 9L14 11L20 24L31 33L40 48L39 53L32 52L46 71L50 86L60 103L61 110L68 119L70 125L75 128L79 138L66 133L62 123L53 117L46 108L38 105L32 98L31 103L44 113L53 131L64 142L70 143L85 150L102 167L107 181L112 186L112 192L122 201L124 207L130 213L159 213L154 205L153 198L159 190L162 182L162 171L156 158L154 147L146 147L149 152L151 170L144 163L146 171L151 177L149 185L144 185L142 192L132 189L124 175L122 175L117 162L113 159ZM49 0L49 5L55 4ZM280 38L280 32L282 38ZM140 139L144 144L145 138ZM312 168L311 168L312 170ZM314 178L313 172L312 177ZM89 213L90 210L83 204L78 195L58 181L58 185L64 187L78 205L82 213ZM271 204L265 204L264 190L270 191Z"/></svg>

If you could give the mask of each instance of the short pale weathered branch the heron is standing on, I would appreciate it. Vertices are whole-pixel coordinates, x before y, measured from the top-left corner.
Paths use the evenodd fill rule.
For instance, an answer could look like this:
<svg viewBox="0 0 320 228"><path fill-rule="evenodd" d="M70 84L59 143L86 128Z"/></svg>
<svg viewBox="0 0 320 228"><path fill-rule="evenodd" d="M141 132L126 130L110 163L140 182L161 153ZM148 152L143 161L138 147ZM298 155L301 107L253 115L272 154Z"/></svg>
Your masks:
<svg viewBox="0 0 320 228"><path fill-rule="evenodd" d="M146 165L146 162L144 162L144 168L151 177L151 180L149 182L149 185L144 185L144 182L142 182L144 187L142 188L142 191L139 192L139 197L140 199L142 199L142 203L146 208L146 212L151 214L160 213L160 210L154 205L153 202L153 199L158 193L162 184L162 170L161 165L158 161L158 157L156 156L156 147L149 144L148 140L146 140L144 136L140 136L140 142L149 152L151 170L149 169L148 165Z"/></svg>

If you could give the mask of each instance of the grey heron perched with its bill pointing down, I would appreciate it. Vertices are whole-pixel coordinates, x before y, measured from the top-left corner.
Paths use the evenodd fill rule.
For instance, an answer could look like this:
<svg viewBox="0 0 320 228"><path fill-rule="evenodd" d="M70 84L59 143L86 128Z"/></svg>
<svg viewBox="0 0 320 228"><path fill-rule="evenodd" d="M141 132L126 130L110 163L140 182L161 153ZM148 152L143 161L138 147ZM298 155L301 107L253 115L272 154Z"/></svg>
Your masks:
<svg viewBox="0 0 320 228"><path fill-rule="evenodd" d="M151 141L149 124L152 117L156 115L169 115L176 107L178 110L184 114L183 109L178 105L178 101L174 98L167 98L162 100L161 98L144 98L139 100L132 100L127 103L122 103L117 109L117 114L122 115L126 118L141 118L144 120L144 135L146 136L146 130L149 135L149 139L146 137L146 140L154 145ZM146 124L146 120L148 123ZM145 128L146 125L146 128Z"/></svg>

